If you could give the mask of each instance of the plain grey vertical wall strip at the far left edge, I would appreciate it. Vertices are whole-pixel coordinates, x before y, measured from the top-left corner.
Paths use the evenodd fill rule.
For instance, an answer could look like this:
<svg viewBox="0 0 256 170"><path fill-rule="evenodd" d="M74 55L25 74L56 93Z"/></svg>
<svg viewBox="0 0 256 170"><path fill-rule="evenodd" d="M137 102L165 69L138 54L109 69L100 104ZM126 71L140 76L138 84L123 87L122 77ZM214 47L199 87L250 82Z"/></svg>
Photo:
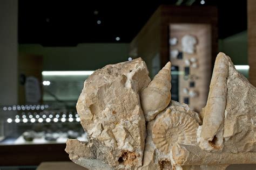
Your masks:
<svg viewBox="0 0 256 170"><path fill-rule="evenodd" d="M18 0L0 1L0 105L17 104Z"/></svg>

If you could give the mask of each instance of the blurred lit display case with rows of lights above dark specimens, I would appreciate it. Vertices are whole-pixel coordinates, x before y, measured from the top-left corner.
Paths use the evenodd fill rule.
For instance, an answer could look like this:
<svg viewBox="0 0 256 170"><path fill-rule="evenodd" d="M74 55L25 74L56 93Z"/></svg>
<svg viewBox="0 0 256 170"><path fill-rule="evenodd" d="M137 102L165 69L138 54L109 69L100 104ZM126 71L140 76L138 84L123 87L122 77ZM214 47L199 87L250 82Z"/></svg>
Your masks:
<svg viewBox="0 0 256 170"><path fill-rule="evenodd" d="M65 143L68 138L86 140L75 109L55 105L1 106L0 145Z"/></svg>

